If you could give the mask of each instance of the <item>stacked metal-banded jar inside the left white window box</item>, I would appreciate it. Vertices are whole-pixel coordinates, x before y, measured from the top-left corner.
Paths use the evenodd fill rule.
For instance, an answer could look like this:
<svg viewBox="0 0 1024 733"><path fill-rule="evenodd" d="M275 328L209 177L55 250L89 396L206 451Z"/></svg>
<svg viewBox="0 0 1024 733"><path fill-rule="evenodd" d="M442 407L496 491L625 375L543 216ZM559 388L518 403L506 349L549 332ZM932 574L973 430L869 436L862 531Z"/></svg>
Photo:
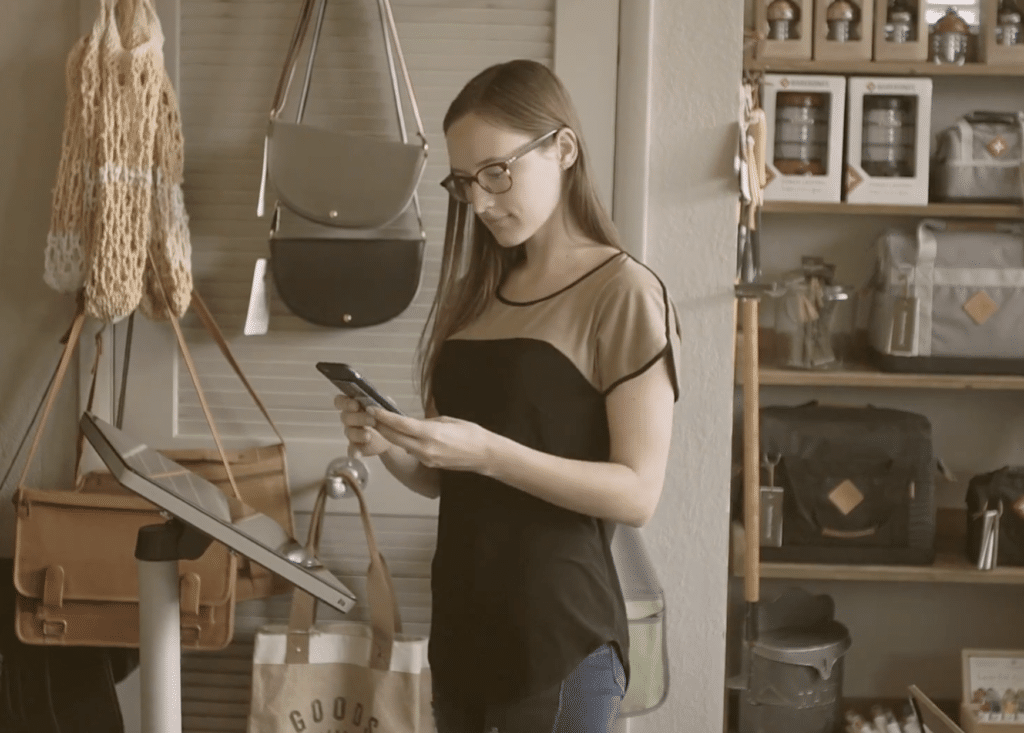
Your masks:
<svg viewBox="0 0 1024 733"><path fill-rule="evenodd" d="M828 94L779 92L775 96L774 164L785 175L828 172Z"/></svg>

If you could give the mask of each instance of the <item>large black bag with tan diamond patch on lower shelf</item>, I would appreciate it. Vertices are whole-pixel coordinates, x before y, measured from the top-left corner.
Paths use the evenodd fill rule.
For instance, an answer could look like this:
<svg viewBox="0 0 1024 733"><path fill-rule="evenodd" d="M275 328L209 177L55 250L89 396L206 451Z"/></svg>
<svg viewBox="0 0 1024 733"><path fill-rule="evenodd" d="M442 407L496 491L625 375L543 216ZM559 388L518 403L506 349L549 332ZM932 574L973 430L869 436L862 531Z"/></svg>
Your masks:
<svg viewBox="0 0 1024 733"><path fill-rule="evenodd" d="M935 559L931 423L883 407L761 411L762 484L782 491L767 561L928 565Z"/></svg>

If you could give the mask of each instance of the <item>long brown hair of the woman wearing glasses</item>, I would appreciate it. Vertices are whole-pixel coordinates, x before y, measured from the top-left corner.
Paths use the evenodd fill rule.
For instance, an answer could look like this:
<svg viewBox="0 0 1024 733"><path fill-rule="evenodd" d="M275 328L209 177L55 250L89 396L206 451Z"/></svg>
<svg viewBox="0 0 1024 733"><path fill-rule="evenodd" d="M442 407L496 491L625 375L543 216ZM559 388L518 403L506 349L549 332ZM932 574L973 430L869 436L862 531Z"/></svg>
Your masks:
<svg viewBox="0 0 1024 733"><path fill-rule="evenodd" d="M444 132L469 114L536 137L563 127L571 129L577 135L579 155L562 181L568 216L585 236L622 247L590 177L575 107L568 91L550 69L537 61L516 59L483 70L452 101L444 115ZM431 400L431 378L441 345L483 311L506 274L524 256L522 246L511 249L499 246L494 234L470 212L468 204L449 200L440 278L417 349L420 394L425 407Z"/></svg>

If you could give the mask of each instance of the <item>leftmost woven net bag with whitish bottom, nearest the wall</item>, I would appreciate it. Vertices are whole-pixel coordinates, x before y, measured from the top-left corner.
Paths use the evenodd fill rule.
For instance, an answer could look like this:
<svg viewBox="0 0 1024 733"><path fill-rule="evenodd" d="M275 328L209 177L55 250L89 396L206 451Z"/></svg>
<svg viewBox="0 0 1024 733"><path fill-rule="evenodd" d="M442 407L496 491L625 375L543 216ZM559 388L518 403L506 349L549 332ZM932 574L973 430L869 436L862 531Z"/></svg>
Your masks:
<svg viewBox="0 0 1024 733"><path fill-rule="evenodd" d="M68 101L43 264L43 281L60 293L82 288L90 256L98 172L99 49L105 30L101 11L92 31L72 47L65 67Z"/></svg>

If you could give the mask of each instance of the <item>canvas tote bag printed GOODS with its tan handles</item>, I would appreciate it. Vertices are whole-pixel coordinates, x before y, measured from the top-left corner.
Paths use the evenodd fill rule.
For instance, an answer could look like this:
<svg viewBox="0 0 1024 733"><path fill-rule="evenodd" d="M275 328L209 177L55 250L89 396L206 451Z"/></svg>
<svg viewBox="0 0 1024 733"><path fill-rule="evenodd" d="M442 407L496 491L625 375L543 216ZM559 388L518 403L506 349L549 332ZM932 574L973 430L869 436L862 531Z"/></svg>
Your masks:
<svg viewBox="0 0 1024 733"><path fill-rule="evenodd" d="M391 575L377 548L362 491L349 484L370 547L371 623L315 621L316 602L296 590L288 626L256 633L249 733L430 733L427 640L401 633ZM327 492L316 498L307 551L319 545Z"/></svg>

